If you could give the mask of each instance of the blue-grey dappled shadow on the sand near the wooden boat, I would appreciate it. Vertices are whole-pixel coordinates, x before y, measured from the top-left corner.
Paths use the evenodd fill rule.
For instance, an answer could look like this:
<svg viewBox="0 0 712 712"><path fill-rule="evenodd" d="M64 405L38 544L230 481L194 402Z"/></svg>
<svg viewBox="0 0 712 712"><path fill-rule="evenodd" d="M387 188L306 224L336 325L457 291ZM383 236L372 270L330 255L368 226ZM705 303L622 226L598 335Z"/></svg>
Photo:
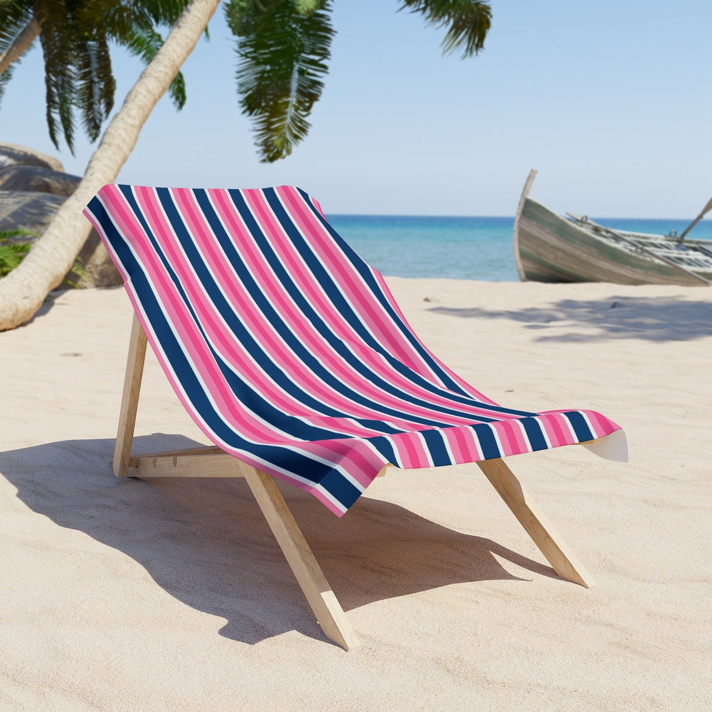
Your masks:
<svg viewBox="0 0 712 712"><path fill-rule="evenodd" d="M529 329L584 326L598 330L597 334L543 333L537 341L588 342L606 338L686 341L712 335L712 302L679 297L613 296L596 300L562 299L549 309L436 307L430 311L468 319L512 319L525 323Z"/></svg>

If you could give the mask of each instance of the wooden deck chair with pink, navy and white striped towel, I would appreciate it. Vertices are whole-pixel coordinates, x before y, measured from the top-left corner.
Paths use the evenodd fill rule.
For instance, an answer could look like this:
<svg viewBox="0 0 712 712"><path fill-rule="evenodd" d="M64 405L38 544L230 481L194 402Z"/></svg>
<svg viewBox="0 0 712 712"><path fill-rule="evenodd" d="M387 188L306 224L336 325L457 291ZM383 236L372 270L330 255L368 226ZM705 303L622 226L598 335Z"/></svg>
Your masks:
<svg viewBox="0 0 712 712"><path fill-rule="evenodd" d="M108 185L85 215L135 309L115 474L244 477L326 637L359 644L274 478L342 516L389 465L475 462L555 572L594 585L502 458L583 444L627 461L622 429L476 391L424 347L308 194ZM131 453L147 342L214 446Z"/></svg>

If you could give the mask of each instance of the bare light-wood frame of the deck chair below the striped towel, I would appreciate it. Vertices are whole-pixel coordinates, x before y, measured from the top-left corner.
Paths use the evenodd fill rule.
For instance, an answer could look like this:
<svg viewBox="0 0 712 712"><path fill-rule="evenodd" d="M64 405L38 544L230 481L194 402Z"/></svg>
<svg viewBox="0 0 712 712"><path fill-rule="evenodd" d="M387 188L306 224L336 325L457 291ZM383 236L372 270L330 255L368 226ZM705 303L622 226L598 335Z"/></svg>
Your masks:
<svg viewBox="0 0 712 712"><path fill-rule="evenodd" d="M244 477L325 636L347 651L359 647L359 639L271 475L236 459L217 446L131 455L146 345L146 334L134 314L116 446L114 458L110 461L115 475L142 479ZM595 444L600 440L602 439L582 444ZM498 458L476 464L555 572L560 577L586 588L595 587L595 581L590 574L505 462ZM382 468L378 473L379 477L385 474L387 467L388 465Z"/></svg>

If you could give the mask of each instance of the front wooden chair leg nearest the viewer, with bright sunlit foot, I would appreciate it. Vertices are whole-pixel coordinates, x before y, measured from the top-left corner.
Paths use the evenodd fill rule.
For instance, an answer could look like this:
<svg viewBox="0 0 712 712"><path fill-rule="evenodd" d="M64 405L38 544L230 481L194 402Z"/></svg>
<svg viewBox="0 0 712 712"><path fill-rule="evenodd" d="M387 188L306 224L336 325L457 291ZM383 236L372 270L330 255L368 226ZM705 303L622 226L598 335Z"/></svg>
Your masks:
<svg viewBox="0 0 712 712"><path fill-rule="evenodd" d="M244 467L244 474L325 636L345 650L359 647L359 639L273 478L255 468Z"/></svg>

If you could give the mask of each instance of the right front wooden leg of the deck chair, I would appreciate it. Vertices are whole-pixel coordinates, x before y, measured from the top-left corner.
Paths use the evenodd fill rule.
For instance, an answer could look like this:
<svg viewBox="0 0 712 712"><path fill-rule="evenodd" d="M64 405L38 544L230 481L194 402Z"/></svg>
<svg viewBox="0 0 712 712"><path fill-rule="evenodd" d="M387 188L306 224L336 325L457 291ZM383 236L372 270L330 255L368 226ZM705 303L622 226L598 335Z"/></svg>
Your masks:
<svg viewBox="0 0 712 712"><path fill-rule="evenodd" d="M531 500L508 466L501 459L477 463L488 480L511 509L513 515L534 540L560 577L574 583L595 588L596 582L585 570L576 555L568 548L545 514Z"/></svg>

